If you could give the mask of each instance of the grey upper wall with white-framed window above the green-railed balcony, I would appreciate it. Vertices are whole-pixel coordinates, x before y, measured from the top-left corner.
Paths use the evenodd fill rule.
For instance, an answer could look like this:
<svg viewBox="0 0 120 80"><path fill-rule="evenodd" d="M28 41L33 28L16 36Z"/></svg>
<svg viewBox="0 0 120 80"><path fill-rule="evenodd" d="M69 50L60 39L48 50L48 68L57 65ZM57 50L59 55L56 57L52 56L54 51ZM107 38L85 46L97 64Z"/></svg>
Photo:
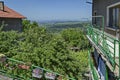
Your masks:
<svg viewBox="0 0 120 80"><path fill-rule="evenodd" d="M120 0L93 0L92 15L104 16L105 30L114 36L116 29L120 28ZM100 19L95 19L94 23L101 24Z"/></svg>

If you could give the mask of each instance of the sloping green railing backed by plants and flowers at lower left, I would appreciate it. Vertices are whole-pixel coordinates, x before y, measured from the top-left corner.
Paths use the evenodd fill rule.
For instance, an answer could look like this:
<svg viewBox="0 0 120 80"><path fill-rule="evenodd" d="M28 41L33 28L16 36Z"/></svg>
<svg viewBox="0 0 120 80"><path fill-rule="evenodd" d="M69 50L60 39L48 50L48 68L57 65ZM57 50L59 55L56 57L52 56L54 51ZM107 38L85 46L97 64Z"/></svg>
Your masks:
<svg viewBox="0 0 120 80"><path fill-rule="evenodd" d="M26 64L22 61L14 60L11 58L6 58L6 61L0 62L0 75L7 76L12 79L17 80L38 80L36 77L33 76L33 70L39 69L39 75L41 79L48 80L45 76L47 73L48 75L52 74L55 76L55 80L75 80L74 78L66 77L59 73L41 68L39 66ZM60 79L59 79L60 78Z"/></svg>

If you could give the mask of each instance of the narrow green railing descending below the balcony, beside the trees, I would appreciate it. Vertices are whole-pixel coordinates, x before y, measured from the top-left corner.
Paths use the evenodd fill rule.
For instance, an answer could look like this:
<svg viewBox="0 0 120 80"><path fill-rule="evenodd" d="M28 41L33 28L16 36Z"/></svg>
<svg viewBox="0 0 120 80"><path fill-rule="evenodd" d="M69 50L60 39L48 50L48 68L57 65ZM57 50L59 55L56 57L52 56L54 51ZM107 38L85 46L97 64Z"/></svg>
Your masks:
<svg viewBox="0 0 120 80"><path fill-rule="evenodd" d="M93 76L94 80L99 80L98 74L97 74L97 72L96 72L96 70L95 70L95 67L94 67L94 65L93 65L93 62L92 62L92 58L91 58L91 53L90 53L90 51L88 51L88 57L89 57L90 69L91 69L91 71L92 71L92 76Z"/></svg>

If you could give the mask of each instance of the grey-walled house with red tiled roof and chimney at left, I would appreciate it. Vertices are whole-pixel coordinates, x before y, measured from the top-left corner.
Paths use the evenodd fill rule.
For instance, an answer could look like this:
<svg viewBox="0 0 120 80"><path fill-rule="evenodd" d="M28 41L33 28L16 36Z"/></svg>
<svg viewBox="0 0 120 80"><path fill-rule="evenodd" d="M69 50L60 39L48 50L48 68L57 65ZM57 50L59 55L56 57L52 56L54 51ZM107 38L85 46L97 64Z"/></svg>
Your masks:
<svg viewBox="0 0 120 80"><path fill-rule="evenodd" d="M22 19L24 18L23 15L8 8L3 1L0 1L0 26L4 24L4 31L22 31Z"/></svg>

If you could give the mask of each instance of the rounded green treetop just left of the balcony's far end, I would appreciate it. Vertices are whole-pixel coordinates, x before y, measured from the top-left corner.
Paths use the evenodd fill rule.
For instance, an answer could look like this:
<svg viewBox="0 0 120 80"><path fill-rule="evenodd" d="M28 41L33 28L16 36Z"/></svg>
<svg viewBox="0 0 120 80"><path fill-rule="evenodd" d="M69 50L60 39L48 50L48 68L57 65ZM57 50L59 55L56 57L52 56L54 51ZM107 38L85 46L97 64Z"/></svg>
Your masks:
<svg viewBox="0 0 120 80"><path fill-rule="evenodd" d="M78 47L79 49L88 47L88 40L80 28L65 29L61 34L68 47Z"/></svg>

